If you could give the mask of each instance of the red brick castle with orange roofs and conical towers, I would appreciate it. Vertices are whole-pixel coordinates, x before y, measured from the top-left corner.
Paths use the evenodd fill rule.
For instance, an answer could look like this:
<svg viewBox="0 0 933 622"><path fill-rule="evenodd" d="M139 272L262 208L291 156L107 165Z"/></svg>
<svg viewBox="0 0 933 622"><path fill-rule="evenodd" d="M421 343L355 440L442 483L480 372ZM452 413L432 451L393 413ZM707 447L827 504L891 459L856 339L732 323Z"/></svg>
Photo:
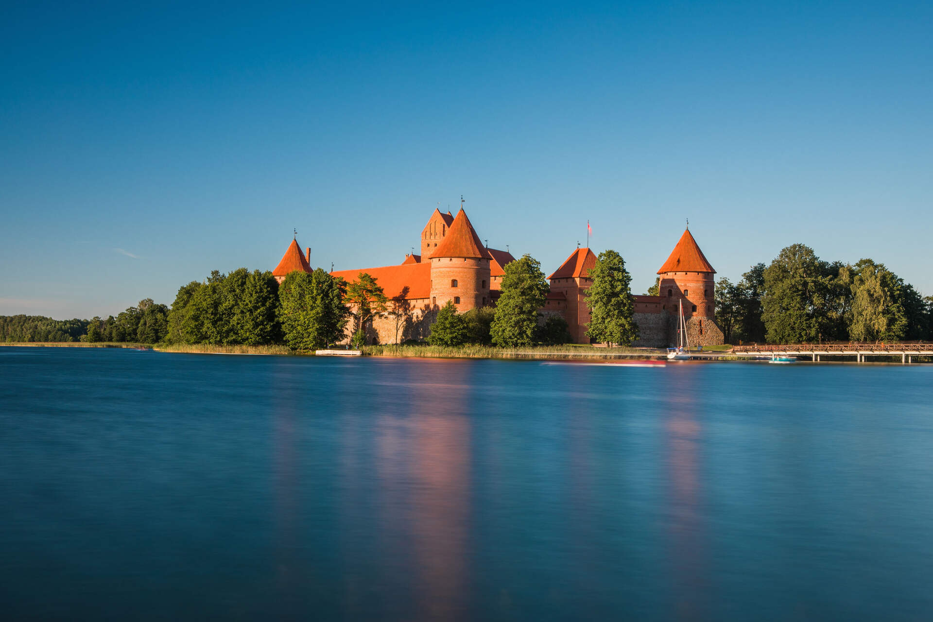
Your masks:
<svg viewBox="0 0 933 622"><path fill-rule="evenodd" d="M431 214L421 232L420 250L421 255L406 254L395 266L330 272L348 283L366 272L389 298L389 309L395 312L368 323L367 342L426 339L437 312L448 301L453 301L459 312L494 306L501 293L504 268L515 260L508 251L489 248L480 241L462 207L455 217L437 209ZM311 249L302 255L298 242L292 240L272 275L282 283L294 270L311 272L310 261ZM550 293L541 315L563 317L575 343L591 342L586 335L590 311L584 294L592 284L589 272L595 263L596 256L589 248L578 248L548 277ZM634 296L639 338L633 345L662 348L675 344L681 308L691 345L722 343L722 331L714 319L714 274L716 270L689 229L684 230L658 270L660 296ZM347 339L352 330L351 323Z"/></svg>

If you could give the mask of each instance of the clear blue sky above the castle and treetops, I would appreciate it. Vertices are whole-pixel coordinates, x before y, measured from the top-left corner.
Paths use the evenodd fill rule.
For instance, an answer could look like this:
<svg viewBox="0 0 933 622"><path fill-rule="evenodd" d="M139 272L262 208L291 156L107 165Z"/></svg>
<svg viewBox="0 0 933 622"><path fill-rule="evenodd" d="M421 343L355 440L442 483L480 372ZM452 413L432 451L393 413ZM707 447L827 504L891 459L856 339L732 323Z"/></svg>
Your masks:
<svg viewBox="0 0 933 622"><path fill-rule="evenodd" d="M13 3L0 314L211 270L397 264L461 196L546 274L644 293L689 219L732 281L802 242L933 295L933 4Z"/></svg>

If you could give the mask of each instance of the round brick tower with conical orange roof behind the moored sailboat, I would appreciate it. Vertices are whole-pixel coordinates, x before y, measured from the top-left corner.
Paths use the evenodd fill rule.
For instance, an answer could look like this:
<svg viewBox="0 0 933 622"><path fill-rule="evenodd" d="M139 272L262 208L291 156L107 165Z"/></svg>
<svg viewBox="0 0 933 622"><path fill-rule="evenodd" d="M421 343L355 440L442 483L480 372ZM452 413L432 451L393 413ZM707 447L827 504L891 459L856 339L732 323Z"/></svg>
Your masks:
<svg viewBox="0 0 933 622"><path fill-rule="evenodd" d="M722 331L716 325L715 281L716 270L710 265L689 229L684 230L680 240L658 270L661 277L660 295L664 309L674 320L683 303L684 319L688 325L690 345L713 345L722 343ZM672 325L675 325L673 322ZM675 329L668 340L676 340Z"/></svg>

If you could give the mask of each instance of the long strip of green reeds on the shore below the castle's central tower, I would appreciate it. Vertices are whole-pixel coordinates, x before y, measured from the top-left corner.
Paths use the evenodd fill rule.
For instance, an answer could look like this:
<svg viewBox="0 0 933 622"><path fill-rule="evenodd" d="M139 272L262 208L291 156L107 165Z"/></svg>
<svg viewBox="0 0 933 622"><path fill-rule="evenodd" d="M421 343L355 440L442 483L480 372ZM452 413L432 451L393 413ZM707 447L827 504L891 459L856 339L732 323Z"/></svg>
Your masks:
<svg viewBox="0 0 933 622"><path fill-rule="evenodd" d="M563 346L527 346L494 348L465 345L457 347L429 345L363 346L365 356L397 356L422 358L566 358L605 359L614 356L659 356L663 351L652 348L595 348L584 344Z"/></svg>

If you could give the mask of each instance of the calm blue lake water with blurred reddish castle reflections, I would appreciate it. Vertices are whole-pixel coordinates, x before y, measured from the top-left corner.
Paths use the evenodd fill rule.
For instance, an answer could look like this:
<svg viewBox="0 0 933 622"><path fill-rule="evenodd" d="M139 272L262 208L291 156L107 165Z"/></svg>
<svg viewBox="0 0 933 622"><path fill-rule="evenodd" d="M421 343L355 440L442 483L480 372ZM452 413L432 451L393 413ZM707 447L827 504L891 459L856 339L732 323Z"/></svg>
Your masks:
<svg viewBox="0 0 933 622"><path fill-rule="evenodd" d="M933 366L0 348L0 604L920 620Z"/></svg>

